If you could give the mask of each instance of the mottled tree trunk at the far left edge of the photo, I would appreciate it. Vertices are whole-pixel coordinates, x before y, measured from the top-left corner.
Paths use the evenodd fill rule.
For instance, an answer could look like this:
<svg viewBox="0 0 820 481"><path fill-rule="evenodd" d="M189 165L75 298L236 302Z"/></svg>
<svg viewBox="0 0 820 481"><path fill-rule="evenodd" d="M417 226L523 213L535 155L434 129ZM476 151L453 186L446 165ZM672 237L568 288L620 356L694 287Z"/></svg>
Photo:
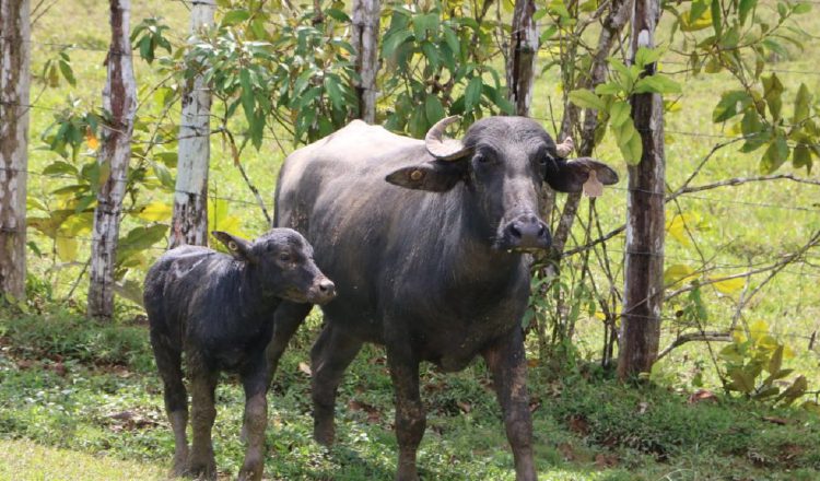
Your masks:
<svg viewBox="0 0 820 481"><path fill-rule="evenodd" d="M28 0L0 0L0 294L25 297L31 20Z"/></svg>

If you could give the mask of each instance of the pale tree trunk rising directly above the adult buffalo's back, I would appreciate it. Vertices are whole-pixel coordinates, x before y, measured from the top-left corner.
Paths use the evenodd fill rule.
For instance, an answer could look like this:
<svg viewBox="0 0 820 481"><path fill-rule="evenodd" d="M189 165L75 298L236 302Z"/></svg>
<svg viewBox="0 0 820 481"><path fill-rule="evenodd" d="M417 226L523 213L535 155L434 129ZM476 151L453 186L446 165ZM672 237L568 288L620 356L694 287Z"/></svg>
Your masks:
<svg viewBox="0 0 820 481"><path fill-rule="evenodd" d="M376 72L378 72L378 0L353 0L353 31L351 43L356 51L356 83L359 118L376 121Z"/></svg>

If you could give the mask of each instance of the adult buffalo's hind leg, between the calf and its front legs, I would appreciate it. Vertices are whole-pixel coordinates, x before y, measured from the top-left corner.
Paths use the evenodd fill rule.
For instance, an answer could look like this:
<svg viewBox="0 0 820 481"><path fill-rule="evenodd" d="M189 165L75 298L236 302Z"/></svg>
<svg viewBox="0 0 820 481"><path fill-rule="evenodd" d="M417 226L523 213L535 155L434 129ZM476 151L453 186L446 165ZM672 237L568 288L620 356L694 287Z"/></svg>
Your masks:
<svg viewBox="0 0 820 481"><path fill-rule="evenodd" d="M333 437L336 437L333 410L337 389L344 369L348 368L361 349L362 341L335 329L332 324L328 321L311 350L313 369L311 391L314 406L313 435L319 444L325 446L333 444Z"/></svg>

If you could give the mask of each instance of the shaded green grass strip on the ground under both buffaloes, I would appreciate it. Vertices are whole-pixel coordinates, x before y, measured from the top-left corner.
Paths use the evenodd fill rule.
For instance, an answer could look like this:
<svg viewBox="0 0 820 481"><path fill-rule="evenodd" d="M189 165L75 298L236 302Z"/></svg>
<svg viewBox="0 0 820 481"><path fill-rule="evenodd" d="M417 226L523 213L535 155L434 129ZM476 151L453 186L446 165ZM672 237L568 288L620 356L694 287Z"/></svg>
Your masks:
<svg viewBox="0 0 820 481"><path fill-rule="evenodd" d="M87 352L101 349L97 333L106 327L65 312L0 315L0 443L31 453L13 464L0 456L0 473L48 479L49 470L78 453L74 469L66 474L77 477L71 479L106 479L106 472L127 473L138 466L152 467L141 471L149 478L139 479L164 472L173 436L144 326L109 326L108 352L101 361ZM266 476L389 479L397 446L393 391L380 349L365 348L344 377L337 445L328 450L312 441L309 377L300 363L308 359L319 326L318 317L312 317L280 365L269 396ZM728 398L689 403L686 394L623 386L585 364L561 376L536 366L530 379L539 479L820 477L820 419L807 411ZM489 385L481 363L455 375L423 369L429 422L419 466L425 479L514 479ZM224 376L216 398L216 462L223 474L235 476L243 457L243 394L236 379Z"/></svg>

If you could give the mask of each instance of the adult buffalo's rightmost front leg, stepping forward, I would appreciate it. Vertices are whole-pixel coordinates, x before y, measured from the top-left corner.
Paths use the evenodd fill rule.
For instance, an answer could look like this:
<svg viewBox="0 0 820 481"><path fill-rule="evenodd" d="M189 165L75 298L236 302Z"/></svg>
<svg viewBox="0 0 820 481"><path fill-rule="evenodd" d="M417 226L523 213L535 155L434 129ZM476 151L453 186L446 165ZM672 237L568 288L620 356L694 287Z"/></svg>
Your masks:
<svg viewBox="0 0 820 481"><path fill-rule="evenodd" d="M515 479L535 481L532 460L532 421L527 394L527 359L520 329L501 339L484 352L493 377L495 394L504 412L504 426L515 458Z"/></svg>

